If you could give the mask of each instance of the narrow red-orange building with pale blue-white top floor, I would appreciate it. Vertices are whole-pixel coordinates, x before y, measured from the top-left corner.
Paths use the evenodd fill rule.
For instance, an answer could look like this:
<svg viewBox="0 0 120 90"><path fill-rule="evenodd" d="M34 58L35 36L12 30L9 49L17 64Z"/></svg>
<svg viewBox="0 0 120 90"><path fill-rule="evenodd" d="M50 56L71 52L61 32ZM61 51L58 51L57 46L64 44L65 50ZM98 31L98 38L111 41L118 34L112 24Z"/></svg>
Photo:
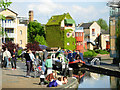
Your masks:
<svg viewBox="0 0 120 90"><path fill-rule="evenodd" d="M84 52L84 30L83 27L76 27L75 29L76 50L81 53Z"/></svg>

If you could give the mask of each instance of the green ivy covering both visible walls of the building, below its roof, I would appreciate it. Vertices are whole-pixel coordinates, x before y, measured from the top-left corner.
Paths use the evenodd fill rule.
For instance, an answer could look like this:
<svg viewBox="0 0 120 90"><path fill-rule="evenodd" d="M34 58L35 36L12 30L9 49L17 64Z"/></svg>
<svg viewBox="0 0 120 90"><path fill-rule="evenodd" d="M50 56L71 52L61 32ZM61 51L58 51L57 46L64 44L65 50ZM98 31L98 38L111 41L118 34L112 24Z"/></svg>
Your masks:
<svg viewBox="0 0 120 90"><path fill-rule="evenodd" d="M53 29L54 28L54 29ZM72 29L60 30L60 26L47 26L46 27L46 41L49 47L61 47L64 49L75 49L75 38L70 36L67 38L67 32ZM70 45L67 45L69 42Z"/></svg>

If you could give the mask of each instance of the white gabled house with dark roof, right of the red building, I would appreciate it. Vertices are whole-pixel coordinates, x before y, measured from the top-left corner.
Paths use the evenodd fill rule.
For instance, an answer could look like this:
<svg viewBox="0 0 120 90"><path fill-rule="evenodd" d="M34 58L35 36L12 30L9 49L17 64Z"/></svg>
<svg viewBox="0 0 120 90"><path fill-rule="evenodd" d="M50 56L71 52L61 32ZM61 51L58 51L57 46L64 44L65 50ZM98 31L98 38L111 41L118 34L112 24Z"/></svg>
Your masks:
<svg viewBox="0 0 120 90"><path fill-rule="evenodd" d="M87 42L87 49L94 50L99 48L99 35L101 27L97 24L97 22L82 23L79 24L78 27L83 27L84 29L84 42Z"/></svg>

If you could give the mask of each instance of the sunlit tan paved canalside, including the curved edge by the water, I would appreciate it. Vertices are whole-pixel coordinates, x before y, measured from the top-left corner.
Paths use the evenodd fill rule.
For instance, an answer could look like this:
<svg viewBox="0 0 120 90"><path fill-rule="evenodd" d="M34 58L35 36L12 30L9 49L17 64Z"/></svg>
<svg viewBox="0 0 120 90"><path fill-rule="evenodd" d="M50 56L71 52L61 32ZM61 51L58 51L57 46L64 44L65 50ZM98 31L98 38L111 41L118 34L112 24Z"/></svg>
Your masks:
<svg viewBox="0 0 120 90"><path fill-rule="evenodd" d="M32 88L32 89L49 89L47 85L39 85L40 78L34 78L34 73L31 73L31 78L26 78L26 66L24 62L18 60L17 69L12 70L11 66L8 69L1 69L2 88ZM60 76L60 75L58 75ZM78 81L76 78L68 77L68 82L65 85L57 88L77 88ZM4 90L4 89L3 89Z"/></svg>

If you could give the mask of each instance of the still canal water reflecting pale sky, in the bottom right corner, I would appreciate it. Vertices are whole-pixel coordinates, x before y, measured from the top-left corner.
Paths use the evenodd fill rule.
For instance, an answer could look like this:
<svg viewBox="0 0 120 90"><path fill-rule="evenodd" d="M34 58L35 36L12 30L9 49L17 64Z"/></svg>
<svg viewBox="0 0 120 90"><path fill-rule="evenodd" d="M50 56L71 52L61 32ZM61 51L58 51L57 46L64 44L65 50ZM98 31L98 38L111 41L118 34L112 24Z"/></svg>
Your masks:
<svg viewBox="0 0 120 90"><path fill-rule="evenodd" d="M78 79L80 88L116 88L120 90L120 78L114 76L107 76L103 74L85 71L79 74L81 78Z"/></svg>

